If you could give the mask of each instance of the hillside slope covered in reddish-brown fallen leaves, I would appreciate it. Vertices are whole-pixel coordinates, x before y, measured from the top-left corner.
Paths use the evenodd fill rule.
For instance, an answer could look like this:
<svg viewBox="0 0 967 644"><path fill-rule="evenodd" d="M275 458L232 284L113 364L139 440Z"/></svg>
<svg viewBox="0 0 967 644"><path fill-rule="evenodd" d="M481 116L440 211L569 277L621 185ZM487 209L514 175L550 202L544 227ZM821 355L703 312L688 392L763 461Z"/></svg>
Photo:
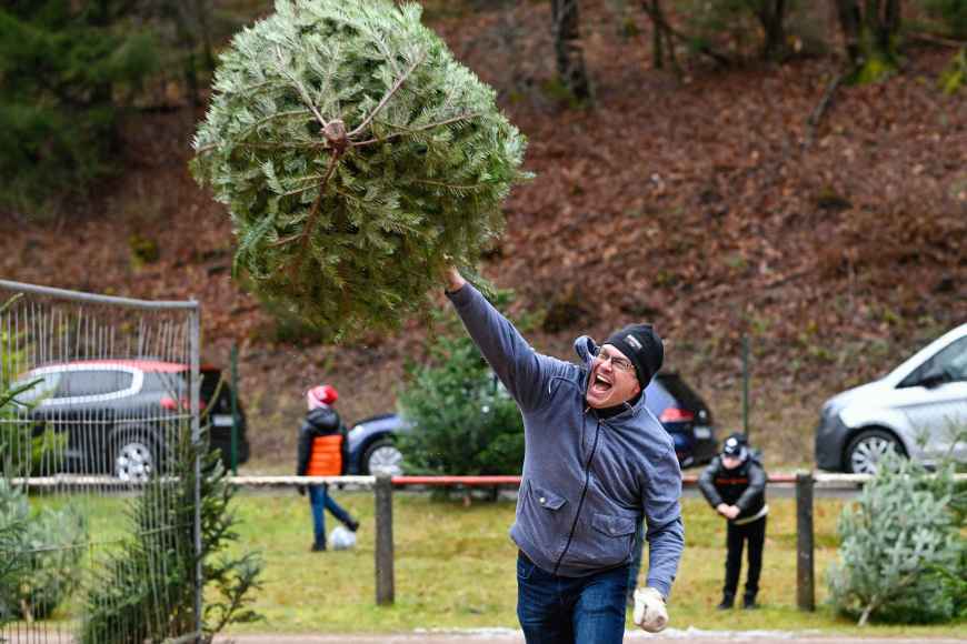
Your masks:
<svg viewBox="0 0 967 644"><path fill-rule="evenodd" d="M597 104L569 109L541 89L546 12L510 12L509 43L498 11L435 24L530 140L537 179L508 201L486 273L545 314L536 346L569 356L578 333L650 320L669 368L735 429L748 334L754 439L792 464L810 460L825 396L967 321L967 100L936 89L947 51L911 51L889 82L843 88L805 149L834 61L696 69L678 82L648 69L647 33L615 38L601 11L586 26ZM241 348L256 464L288 464L308 385L336 384L349 420L387 411L425 329L412 321L352 346L279 341L230 276L226 213L187 173L198 118L130 118L127 171L99 191L97 214L2 222L0 275L199 299L206 358L227 363L232 342ZM157 260L136 256L146 243Z"/></svg>

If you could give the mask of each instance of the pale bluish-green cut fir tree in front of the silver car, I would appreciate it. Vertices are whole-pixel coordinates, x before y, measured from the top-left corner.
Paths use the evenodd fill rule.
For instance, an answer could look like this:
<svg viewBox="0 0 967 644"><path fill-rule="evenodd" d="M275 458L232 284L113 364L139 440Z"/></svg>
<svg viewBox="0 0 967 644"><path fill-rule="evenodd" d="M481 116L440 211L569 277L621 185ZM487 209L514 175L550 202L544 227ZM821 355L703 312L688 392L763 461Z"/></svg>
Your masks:
<svg viewBox="0 0 967 644"><path fill-rule="evenodd" d="M943 622L965 610L963 486L954 465L936 473L888 454L839 520L830 598L843 614L881 622Z"/></svg>

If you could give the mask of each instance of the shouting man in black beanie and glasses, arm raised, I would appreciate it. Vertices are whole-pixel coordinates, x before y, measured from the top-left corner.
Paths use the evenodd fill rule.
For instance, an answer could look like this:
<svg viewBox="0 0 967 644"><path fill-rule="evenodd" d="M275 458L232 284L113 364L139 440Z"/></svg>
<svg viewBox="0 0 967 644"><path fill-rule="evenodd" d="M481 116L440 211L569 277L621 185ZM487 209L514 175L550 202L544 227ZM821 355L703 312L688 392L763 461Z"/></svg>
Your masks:
<svg viewBox="0 0 967 644"><path fill-rule="evenodd" d="M647 324L575 349L580 365L534 351L456 269L447 295L524 415L525 457L510 537L517 615L529 644L619 643L635 529L648 525L648 582L634 621L656 633L685 534L681 471L668 433L645 407L661 368L660 338Z"/></svg>

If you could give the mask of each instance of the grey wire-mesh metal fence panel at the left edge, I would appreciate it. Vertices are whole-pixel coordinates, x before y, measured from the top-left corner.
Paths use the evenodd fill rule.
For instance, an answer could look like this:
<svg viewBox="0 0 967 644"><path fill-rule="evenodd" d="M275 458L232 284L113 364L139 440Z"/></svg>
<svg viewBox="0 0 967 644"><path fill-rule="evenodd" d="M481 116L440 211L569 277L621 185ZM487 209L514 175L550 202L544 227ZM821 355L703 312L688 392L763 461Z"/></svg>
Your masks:
<svg viewBox="0 0 967 644"><path fill-rule="evenodd" d="M0 281L0 642L198 638L199 316Z"/></svg>

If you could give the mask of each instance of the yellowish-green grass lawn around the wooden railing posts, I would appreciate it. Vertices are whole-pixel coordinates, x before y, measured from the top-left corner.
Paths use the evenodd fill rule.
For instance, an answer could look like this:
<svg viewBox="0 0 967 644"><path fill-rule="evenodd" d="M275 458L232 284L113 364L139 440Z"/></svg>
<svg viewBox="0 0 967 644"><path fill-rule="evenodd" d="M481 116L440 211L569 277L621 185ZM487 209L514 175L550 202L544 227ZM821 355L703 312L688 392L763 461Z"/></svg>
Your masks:
<svg viewBox="0 0 967 644"><path fill-rule="evenodd" d="M352 551L311 553L309 504L295 492L239 494L236 510L247 547L266 560L265 588L256 608L266 621L230 633L349 633L413 628L517 627L516 547L507 531L514 503L435 501L397 493L393 502L396 604L377 607L373 572L373 502L369 492L336 492L362 521ZM769 502L769 526L760 582L764 608L727 613L720 600L725 525L704 501L684 500L685 556L670 601L671 625L710 630L818 630L877 635L967 636L967 624L868 626L858 630L824 605L796 610L795 502ZM841 503L816 502L817 602L826 598L824 573L835 556L836 519ZM327 529L337 523L327 515ZM644 575L642 571L642 575ZM629 620L630 624L630 620Z"/></svg>

